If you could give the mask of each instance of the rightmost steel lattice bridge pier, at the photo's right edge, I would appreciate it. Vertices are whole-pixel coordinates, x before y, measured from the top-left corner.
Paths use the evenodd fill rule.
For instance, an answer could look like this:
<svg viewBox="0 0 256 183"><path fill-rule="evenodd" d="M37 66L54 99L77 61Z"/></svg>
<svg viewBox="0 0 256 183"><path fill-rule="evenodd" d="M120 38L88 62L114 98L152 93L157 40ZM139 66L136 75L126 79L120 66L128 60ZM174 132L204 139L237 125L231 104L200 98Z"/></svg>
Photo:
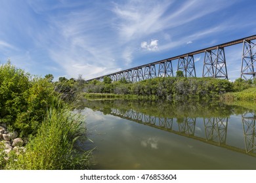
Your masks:
<svg viewBox="0 0 256 183"><path fill-rule="evenodd" d="M256 43L244 40L241 78L253 79L256 76ZM254 65L255 64L255 65Z"/></svg>

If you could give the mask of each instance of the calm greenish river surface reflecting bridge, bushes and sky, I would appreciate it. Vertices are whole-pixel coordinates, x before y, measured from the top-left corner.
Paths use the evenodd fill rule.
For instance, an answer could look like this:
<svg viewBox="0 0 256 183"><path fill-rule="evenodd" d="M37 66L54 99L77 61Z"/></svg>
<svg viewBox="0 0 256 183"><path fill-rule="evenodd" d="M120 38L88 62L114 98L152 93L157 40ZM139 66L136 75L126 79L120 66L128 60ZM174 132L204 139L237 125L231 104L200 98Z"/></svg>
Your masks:
<svg viewBox="0 0 256 183"><path fill-rule="evenodd" d="M221 103L84 101L93 169L256 169L255 111Z"/></svg>

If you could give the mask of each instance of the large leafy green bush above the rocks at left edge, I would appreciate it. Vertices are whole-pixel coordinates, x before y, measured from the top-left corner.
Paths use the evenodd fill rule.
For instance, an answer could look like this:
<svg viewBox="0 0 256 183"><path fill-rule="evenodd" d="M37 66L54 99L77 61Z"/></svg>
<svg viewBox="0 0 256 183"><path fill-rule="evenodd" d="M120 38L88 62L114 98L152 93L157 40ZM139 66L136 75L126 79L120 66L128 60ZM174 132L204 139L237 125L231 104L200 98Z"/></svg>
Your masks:
<svg viewBox="0 0 256 183"><path fill-rule="evenodd" d="M10 62L1 65L0 81L0 122L21 135L33 135L54 95L51 82L31 78Z"/></svg>

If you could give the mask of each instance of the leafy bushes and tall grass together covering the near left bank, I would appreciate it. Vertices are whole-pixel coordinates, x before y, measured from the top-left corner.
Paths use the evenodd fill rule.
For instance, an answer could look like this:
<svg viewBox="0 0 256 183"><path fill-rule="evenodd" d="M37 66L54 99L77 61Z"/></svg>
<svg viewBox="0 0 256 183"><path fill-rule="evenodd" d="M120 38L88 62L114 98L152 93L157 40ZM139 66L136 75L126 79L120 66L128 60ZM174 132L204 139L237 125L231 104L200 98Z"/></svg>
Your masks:
<svg viewBox="0 0 256 183"><path fill-rule="evenodd" d="M66 103L75 96L70 92L75 85L69 86L70 82L54 84L49 78L31 76L10 61L0 66L0 123L26 139L26 150L19 153L7 154L0 143L0 169L89 167L91 152L75 146L86 129L81 116L73 114L73 106Z"/></svg>

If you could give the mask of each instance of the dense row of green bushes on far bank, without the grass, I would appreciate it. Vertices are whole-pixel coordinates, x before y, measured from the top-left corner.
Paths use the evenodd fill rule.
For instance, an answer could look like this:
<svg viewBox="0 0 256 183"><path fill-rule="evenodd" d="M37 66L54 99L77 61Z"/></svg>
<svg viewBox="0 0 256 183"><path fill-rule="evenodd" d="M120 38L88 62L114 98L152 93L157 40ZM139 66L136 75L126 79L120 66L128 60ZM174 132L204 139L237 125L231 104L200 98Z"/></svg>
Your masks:
<svg viewBox="0 0 256 183"><path fill-rule="evenodd" d="M183 100L219 97L223 93L232 92L234 90L233 85L228 80L216 78L166 77L142 80L133 84L120 81L106 84L93 81L85 84L85 92L154 95L159 99Z"/></svg>

